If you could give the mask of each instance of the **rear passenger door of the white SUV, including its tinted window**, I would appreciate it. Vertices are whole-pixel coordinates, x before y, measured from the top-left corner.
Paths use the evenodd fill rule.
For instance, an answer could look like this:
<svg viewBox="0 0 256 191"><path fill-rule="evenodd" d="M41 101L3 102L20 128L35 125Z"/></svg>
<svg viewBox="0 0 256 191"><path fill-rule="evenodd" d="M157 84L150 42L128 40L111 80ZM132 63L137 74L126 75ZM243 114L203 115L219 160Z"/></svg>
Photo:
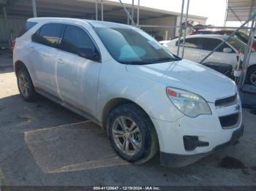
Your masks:
<svg viewBox="0 0 256 191"><path fill-rule="evenodd" d="M30 60L34 68L36 87L58 97L56 84L56 58L64 24L48 23L32 36L29 44Z"/></svg>

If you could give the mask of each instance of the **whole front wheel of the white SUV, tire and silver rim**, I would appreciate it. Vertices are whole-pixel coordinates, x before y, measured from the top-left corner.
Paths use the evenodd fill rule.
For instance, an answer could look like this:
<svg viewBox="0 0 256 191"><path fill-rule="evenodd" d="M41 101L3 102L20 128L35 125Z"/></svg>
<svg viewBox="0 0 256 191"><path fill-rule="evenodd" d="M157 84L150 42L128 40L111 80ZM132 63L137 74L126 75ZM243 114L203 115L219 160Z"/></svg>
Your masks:
<svg viewBox="0 0 256 191"><path fill-rule="evenodd" d="M146 163L158 152L154 125L146 112L135 104L123 104L113 109L108 116L107 128L111 146L130 163Z"/></svg>

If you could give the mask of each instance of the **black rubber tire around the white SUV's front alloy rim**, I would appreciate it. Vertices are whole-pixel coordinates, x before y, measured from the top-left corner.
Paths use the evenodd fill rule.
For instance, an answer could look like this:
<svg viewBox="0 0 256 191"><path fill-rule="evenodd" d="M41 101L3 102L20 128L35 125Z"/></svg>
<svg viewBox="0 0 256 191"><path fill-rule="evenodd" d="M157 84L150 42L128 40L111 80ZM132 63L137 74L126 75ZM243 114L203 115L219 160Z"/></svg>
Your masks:
<svg viewBox="0 0 256 191"><path fill-rule="evenodd" d="M134 151L135 153L132 155L127 155L126 153L124 153L124 150L120 148L120 145L116 143L114 138L114 133L113 133L115 132L114 129L115 127L120 126L115 124L120 117L127 118L128 122L131 122L131 121L135 122L136 124L135 127L136 129L138 128L140 133L140 136L139 136L140 141L136 140L136 142L140 142L140 149L137 149L137 152ZM159 149L158 139L157 139L157 133L154 129L154 125L151 122L148 115L146 114L146 112L144 112L142 109L140 109L139 106L135 104L123 104L113 109L108 116L107 128L108 128L108 136L110 139L111 146L120 157L122 157L124 160L129 161L130 163L146 163L148 160L154 157L154 155L156 155L158 152L158 149ZM135 136L137 136L138 138L138 135L134 134L130 137L130 139L135 140ZM121 143L120 141L121 139L122 138L118 138L118 141L120 143ZM129 138L123 138L123 139L129 139ZM133 146L134 144L132 144L134 142L131 140L128 141L129 149L132 149L132 147L134 147Z"/></svg>

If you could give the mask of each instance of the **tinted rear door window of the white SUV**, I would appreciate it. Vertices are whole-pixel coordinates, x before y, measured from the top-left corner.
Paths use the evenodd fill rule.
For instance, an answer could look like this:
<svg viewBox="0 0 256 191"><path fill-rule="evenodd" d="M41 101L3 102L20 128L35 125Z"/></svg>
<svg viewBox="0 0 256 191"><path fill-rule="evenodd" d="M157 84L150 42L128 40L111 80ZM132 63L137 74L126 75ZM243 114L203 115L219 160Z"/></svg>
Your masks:
<svg viewBox="0 0 256 191"><path fill-rule="evenodd" d="M61 36L64 31L64 24L60 23L49 23L45 24L39 30L33 34L32 41L39 44L44 44L48 47L59 46Z"/></svg>

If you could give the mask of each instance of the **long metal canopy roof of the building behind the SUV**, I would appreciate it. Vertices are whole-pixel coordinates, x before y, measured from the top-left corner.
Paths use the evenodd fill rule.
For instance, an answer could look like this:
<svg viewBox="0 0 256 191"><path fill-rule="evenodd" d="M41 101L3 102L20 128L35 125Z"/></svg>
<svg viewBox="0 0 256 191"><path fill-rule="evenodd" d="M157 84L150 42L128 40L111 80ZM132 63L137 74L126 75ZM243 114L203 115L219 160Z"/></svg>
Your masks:
<svg viewBox="0 0 256 191"><path fill-rule="evenodd" d="M95 0L36 0L38 17L79 17L86 19L95 19ZM127 15L119 2L103 1L104 20L126 23ZM101 0L98 0L98 12L101 12ZM124 4L131 10L131 4ZM33 17L31 0L9 0L6 6L9 17ZM135 6L137 10L137 6ZM3 15L0 9L0 15ZM100 14L99 14L100 15ZM178 12L169 12L149 7L140 7L140 20L154 18L177 16ZM190 15L192 17L198 17ZM136 17L136 14L135 14ZM198 17L205 19L206 17ZM99 16L100 19L100 16Z"/></svg>

